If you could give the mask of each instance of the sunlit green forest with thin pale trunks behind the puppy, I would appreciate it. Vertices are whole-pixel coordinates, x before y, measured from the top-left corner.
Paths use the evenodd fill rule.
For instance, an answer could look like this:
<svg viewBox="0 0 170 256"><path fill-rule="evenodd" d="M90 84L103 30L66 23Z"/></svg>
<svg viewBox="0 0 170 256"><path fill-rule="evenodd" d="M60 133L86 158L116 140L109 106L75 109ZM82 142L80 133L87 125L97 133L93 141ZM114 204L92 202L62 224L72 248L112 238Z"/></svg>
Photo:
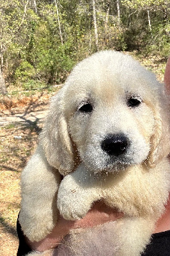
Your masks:
<svg viewBox="0 0 170 256"><path fill-rule="evenodd" d="M1 93L63 83L78 61L104 49L165 62L169 10L163 0L1 0Z"/></svg>

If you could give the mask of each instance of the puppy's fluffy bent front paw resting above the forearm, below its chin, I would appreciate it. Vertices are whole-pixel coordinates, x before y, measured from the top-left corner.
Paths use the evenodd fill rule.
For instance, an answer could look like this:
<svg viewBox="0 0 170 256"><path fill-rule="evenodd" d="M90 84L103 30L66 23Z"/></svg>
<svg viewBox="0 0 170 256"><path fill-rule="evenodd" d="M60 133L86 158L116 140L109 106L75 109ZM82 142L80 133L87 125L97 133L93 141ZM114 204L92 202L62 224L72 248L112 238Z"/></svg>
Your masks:
<svg viewBox="0 0 170 256"><path fill-rule="evenodd" d="M66 220L80 219L86 215L93 202L102 197L95 177L91 177L84 164L66 175L58 190L58 209Z"/></svg>

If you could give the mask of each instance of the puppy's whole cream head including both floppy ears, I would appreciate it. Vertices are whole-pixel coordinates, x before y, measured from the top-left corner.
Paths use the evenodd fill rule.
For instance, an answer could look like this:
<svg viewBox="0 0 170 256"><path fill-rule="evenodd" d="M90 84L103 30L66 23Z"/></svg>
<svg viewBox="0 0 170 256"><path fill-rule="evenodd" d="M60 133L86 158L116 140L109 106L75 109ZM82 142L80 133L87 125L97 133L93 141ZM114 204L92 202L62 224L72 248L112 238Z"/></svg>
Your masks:
<svg viewBox="0 0 170 256"><path fill-rule="evenodd" d="M77 166L75 148L94 172L146 159L152 167L169 153L166 113L164 87L151 72L120 52L99 52L81 61L53 98L41 143L63 175Z"/></svg>

